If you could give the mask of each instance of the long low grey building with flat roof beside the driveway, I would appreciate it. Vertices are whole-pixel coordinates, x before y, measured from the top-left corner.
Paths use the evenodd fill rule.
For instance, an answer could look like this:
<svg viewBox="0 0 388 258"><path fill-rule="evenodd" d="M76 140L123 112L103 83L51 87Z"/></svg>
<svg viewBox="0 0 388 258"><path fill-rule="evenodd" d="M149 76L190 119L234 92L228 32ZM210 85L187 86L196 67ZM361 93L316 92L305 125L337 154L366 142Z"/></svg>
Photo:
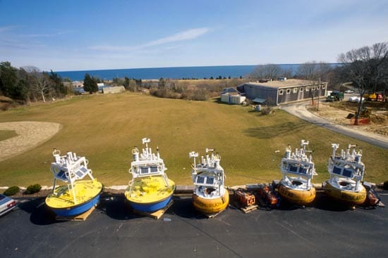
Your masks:
<svg viewBox="0 0 388 258"><path fill-rule="evenodd" d="M272 82L247 82L237 86L245 93L246 98L265 99L268 105L281 105L297 101L308 101L313 98L325 98L327 82L308 81L303 79L284 79Z"/></svg>

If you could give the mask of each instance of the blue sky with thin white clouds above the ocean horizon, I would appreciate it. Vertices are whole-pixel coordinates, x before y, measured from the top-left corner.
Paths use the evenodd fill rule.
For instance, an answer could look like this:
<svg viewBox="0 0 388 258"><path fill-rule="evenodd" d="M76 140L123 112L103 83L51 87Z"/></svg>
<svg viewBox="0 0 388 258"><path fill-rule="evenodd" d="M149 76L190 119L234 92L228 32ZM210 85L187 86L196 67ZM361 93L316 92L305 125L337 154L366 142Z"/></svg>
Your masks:
<svg viewBox="0 0 388 258"><path fill-rule="evenodd" d="M334 63L388 41L387 0L0 0L0 61L41 70Z"/></svg>

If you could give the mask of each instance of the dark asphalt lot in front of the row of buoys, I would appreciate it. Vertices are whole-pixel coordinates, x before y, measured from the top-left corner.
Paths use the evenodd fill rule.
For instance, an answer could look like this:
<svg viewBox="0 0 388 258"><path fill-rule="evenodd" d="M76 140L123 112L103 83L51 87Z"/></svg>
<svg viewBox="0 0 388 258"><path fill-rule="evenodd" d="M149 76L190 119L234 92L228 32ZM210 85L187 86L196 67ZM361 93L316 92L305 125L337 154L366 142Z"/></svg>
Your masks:
<svg viewBox="0 0 388 258"><path fill-rule="evenodd" d="M387 203L387 192L381 193ZM21 202L0 217L1 257L386 257L387 208L354 211L317 196L311 207L281 205L214 219L174 197L159 219L131 212L106 195L86 221L54 220L44 199Z"/></svg>

